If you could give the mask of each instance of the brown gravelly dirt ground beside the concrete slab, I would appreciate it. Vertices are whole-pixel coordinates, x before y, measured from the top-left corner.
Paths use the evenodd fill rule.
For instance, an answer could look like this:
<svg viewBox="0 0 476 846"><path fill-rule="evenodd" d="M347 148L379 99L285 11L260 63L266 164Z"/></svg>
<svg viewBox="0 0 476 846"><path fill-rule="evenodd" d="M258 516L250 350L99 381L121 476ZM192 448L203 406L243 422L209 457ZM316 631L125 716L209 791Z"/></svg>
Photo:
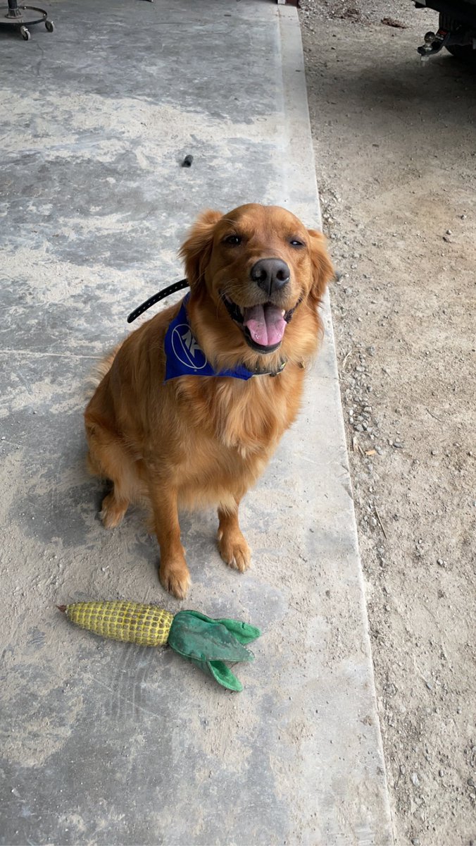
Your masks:
<svg viewBox="0 0 476 846"><path fill-rule="evenodd" d="M410 0L299 14L396 843L468 846L476 73L421 65L437 14Z"/></svg>

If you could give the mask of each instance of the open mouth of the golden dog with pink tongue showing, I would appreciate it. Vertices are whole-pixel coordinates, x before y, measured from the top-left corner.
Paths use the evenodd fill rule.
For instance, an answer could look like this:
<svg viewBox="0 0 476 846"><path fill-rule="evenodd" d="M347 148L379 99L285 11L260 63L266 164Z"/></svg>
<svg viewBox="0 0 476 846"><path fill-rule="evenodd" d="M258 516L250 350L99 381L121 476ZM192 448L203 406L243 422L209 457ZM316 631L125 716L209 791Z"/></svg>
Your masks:
<svg viewBox="0 0 476 846"><path fill-rule="evenodd" d="M273 303L240 306L222 294L229 316L243 329L245 341L260 353L272 353L282 342L294 309L285 311Z"/></svg>

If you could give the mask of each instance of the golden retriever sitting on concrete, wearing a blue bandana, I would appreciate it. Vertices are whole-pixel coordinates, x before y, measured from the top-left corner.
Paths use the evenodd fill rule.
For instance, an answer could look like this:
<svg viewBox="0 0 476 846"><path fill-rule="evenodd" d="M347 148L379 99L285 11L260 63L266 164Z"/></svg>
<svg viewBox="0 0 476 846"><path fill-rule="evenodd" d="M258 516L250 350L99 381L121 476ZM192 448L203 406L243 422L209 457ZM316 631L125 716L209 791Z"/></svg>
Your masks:
<svg viewBox="0 0 476 846"><path fill-rule="evenodd" d="M223 560L249 567L238 506L298 413L332 266L319 232L257 204L205 211L180 255L186 305L161 311L114 351L85 427L90 470L112 481L103 524L119 525L129 503L149 503L161 584L183 599L180 508L215 505Z"/></svg>

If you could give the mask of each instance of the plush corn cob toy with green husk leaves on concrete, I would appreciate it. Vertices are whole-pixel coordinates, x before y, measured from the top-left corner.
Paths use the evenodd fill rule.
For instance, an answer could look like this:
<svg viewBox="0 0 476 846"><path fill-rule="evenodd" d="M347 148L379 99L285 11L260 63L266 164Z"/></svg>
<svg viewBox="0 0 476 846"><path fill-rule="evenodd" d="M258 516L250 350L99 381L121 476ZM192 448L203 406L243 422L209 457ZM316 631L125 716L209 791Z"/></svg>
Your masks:
<svg viewBox="0 0 476 846"><path fill-rule="evenodd" d="M253 652L243 644L261 634L239 620L214 620L198 611L174 616L165 608L140 602L74 602L57 607L72 623L103 637L140 646L168 644L229 690L243 690L243 685L225 662L253 661Z"/></svg>

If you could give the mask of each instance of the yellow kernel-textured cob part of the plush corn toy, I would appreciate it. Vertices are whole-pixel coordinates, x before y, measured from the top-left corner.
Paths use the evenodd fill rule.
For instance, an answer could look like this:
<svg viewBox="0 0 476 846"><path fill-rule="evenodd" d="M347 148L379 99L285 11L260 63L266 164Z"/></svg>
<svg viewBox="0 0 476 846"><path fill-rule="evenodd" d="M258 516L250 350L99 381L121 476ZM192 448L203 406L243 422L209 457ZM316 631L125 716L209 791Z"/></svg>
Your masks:
<svg viewBox="0 0 476 846"><path fill-rule="evenodd" d="M102 637L140 646L164 646L173 614L141 602L74 602L65 609L68 620Z"/></svg>

